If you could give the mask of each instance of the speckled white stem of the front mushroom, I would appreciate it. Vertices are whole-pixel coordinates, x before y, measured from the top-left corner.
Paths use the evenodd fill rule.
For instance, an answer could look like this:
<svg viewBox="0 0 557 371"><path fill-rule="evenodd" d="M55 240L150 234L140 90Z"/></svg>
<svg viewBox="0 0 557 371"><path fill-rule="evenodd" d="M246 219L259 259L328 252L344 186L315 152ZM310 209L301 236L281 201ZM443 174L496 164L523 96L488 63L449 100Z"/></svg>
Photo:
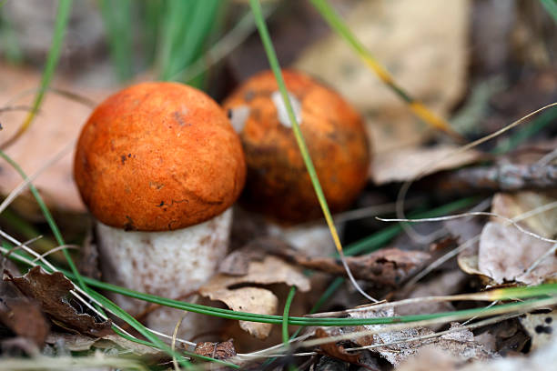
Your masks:
<svg viewBox="0 0 557 371"><path fill-rule="evenodd" d="M232 209L196 226L167 232L124 231L96 225L103 278L115 285L157 296L179 299L203 285L226 256ZM148 303L127 296L115 296L118 306L132 315ZM172 335L186 313L161 307L147 317L147 326ZM206 321L187 316L179 336L191 337L207 331Z"/></svg>

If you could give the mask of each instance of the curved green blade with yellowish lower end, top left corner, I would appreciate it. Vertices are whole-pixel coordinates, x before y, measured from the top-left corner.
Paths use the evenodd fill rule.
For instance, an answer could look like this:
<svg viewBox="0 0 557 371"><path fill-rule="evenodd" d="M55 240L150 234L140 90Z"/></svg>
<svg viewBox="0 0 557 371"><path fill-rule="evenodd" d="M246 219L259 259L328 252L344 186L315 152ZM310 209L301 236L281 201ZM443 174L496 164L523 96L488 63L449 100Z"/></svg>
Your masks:
<svg viewBox="0 0 557 371"><path fill-rule="evenodd" d="M46 65L45 70L43 71L43 77L41 79L41 85L37 94L35 95L35 101L33 102L33 108L29 112L29 114L25 117L25 121L23 125L19 127L17 132L14 136L0 145L1 149L5 149L9 145L15 143L15 141L25 133L25 131L29 128L33 119L35 118L36 113L38 112L39 107L43 103L43 99L45 98L46 89L50 82L52 81L52 77L54 75L56 65L58 65L58 60L60 59L60 49L62 48L62 44L64 41L64 34L66 33L66 25L69 19L70 11L72 9L72 0L60 0L58 2L58 10L56 14L56 24L55 30L52 38L52 45L50 45L50 50L48 51L48 56L46 57Z"/></svg>

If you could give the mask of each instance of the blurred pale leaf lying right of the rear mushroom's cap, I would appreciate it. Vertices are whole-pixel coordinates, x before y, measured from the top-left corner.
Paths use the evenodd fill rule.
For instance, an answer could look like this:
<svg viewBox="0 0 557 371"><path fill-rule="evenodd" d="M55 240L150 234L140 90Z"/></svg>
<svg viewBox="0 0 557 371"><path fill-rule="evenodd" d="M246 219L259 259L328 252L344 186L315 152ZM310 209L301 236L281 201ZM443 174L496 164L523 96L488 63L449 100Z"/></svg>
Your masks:
<svg viewBox="0 0 557 371"><path fill-rule="evenodd" d="M371 179L376 185L403 182L415 179L419 175L430 175L442 170L470 165L481 158L481 153L477 151L449 156L457 148L456 145L436 145L379 153L371 164Z"/></svg>

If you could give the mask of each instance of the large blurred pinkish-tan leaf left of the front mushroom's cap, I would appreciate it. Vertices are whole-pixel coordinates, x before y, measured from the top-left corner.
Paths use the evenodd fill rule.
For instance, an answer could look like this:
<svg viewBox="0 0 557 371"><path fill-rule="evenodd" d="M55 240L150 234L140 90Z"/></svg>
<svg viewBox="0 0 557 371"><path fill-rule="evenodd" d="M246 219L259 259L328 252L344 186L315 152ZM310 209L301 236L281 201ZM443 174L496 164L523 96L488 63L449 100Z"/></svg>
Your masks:
<svg viewBox="0 0 557 371"><path fill-rule="evenodd" d="M35 90L40 85L41 74L35 70L0 65L0 107L5 105L32 105ZM84 89L70 84L68 81L56 78L52 86L73 90L80 95L86 95L94 101L100 101L106 93ZM31 94L23 95L25 92ZM14 145L5 150L19 164L27 175L32 175L41 168L47 159L61 151L66 145L76 140L81 126L85 124L91 108L71 101L66 97L46 92L46 97L33 125L21 136ZM15 131L25 120L26 112L10 111L0 115L4 129L0 131L0 143L14 135ZM35 186L41 191L49 206L66 212L82 213L85 206L74 184L72 175L73 150L68 152L55 165L50 166L35 181ZM0 164L0 194L7 194L22 182L22 178L15 170L5 164ZM25 194L27 198L31 196ZM20 200L23 202L23 200ZM39 214L35 203L31 204L27 214ZM20 206L25 207L23 204Z"/></svg>

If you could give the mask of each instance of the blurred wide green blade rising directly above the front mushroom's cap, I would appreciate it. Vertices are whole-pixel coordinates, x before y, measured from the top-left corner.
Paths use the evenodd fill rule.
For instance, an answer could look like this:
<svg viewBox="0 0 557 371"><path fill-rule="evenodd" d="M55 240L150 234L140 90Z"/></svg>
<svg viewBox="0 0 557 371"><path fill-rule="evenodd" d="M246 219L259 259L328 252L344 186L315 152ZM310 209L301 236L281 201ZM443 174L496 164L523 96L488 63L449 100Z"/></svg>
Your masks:
<svg viewBox="0 0 557 371"><path fill-rule="evenodd" d="M133 71L133 35L131 0L100 0L110 57L120 81L127 81Z"/></svg>

